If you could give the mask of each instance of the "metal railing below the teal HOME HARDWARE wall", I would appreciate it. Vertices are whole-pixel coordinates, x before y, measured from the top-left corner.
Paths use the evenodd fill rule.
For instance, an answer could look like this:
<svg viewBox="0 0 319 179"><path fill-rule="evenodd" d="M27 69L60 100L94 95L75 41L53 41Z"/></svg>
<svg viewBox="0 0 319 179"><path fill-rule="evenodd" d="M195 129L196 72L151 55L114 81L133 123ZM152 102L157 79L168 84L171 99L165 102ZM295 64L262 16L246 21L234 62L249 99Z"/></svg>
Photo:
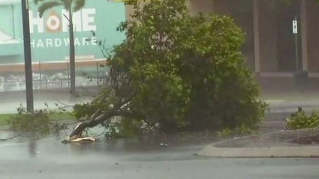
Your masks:
<svg viewBox="0 0 319 179"><path fill-rule="evenodd" d="M106 74L105 68L100 65L105 61L85 61L76 66L76 87L100 86L100 78ZM34 63L33 64L33 89L58 89L70 88L70 66L68 62L57 63ZM8 69L15 69L9 72ZM0 70L0 92L19 91L26 89L26 82L23 66L7 66L3 68L8 71ZM17 69L19 69L17 71ZM84 75L86 74L86 75Z"/></svg>

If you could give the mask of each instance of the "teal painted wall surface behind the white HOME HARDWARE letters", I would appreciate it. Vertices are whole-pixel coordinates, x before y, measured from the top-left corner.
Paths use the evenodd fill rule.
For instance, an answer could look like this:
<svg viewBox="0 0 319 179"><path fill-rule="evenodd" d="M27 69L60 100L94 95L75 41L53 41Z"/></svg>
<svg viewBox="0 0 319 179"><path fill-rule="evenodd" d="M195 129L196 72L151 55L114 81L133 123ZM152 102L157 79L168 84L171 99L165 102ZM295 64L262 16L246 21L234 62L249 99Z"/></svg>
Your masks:
<svg viewBox="0 0 319 179"><path fill-rule="evenodd" d="M31 3L30 10L32 10L32 16L37 17L37 6ZM76 38L76 56L83 58L84 56L95 59L104 58L100 48L95 42L92 32L88 31L89 28L84 27L87 21L83 20L87 17L94 20L90 22L89 27L96 27L96 38L99 40L105 40L107 48L112 48L113 45L119 44L125 38L124 33L116 31L119 23L125 21L125 7L124 3L110 3L105 0L87 0L84 10L79 12L80 17L78 22L81 22L80 31L75 29ZM86 14L88 10L92 11L95 9L95 14ZM12 15L13 11L13 15ZM84 12L85 11L85 12ZM52 14L58 17L60 26L55 31L50 31L47 26L49 16ZM7 33L10 36L14 36L15 39L22 39L22 21L21 21L21 5L0 5L0 30ZM67 61L69 57L69 45L67 40L69 39L69 32L63 30L63 15L62 7L54 8L44 13L43 19L40 21L40 30L44 32L38 32L38 25L33 25L34 32L31 33L31 49L32 49L32 60L33 62L45 62L45 61ZM38 19L39 20L39 19ZM54 21L49 23L54 24ZM56 22L56 21L55 21ZM32 25L31 20L31 25ZM42 26L43 25L43 26ZM64 25L65 28L65 25ZM93 40L85 40L91 39ZM57 42L57 43L56 43ZM62 43L60 43L62 42ZM18 54L18 55L17 55ZM15 55L14 57L8 57ZM23 62L24 59L22 52L22 41L19 44L0 44L0 63L17 63Z"/></svg>

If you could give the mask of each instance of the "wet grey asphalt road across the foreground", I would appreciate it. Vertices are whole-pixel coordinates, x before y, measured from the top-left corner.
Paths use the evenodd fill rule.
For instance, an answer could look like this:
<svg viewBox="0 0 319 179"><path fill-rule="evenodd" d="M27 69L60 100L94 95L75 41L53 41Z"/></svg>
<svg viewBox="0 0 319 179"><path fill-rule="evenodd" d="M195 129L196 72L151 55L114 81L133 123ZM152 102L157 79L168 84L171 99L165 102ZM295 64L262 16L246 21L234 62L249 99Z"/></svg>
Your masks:
<svg viewBox="0 0 319 179"><path fill-rule="evenodd" d="M134 141L0 143L0 178L319 178L319 159L216 159L202 146Z"/></svg>

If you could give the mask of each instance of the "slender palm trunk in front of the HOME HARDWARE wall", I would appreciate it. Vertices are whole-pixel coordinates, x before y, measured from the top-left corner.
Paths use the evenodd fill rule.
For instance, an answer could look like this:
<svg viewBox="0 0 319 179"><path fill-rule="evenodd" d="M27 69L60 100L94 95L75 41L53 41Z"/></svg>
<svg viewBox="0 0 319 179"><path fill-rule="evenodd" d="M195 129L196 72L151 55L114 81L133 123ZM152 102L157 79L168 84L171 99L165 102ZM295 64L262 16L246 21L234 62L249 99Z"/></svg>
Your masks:
<svg viewBox="0 0 319 179"><path fill-rule="evenodd" d="M70 79L71 79L71 94L75 94L75 46L74 46L74 29L72 9L69 9L69 33L70 33Z"/></svg>

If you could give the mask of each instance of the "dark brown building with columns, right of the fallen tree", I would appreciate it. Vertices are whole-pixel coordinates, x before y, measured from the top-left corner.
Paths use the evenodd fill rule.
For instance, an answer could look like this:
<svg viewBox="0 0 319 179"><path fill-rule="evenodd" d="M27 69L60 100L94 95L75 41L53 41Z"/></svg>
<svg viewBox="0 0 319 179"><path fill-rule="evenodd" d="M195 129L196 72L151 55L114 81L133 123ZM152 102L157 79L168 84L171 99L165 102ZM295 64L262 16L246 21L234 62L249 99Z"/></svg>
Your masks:
<svg viewBox="0 0 319 179"><path fill-rule="evenodd" d="M313 0L190 0L192 13L232 16L246 34L242 51L264 87L319 82L319 3ZM293 22L297 26L293 28ZM294 30L293 30L294 29ZM305 75L298 75L305 74ZM302 83L304 84L304 83Z"/></svg>

